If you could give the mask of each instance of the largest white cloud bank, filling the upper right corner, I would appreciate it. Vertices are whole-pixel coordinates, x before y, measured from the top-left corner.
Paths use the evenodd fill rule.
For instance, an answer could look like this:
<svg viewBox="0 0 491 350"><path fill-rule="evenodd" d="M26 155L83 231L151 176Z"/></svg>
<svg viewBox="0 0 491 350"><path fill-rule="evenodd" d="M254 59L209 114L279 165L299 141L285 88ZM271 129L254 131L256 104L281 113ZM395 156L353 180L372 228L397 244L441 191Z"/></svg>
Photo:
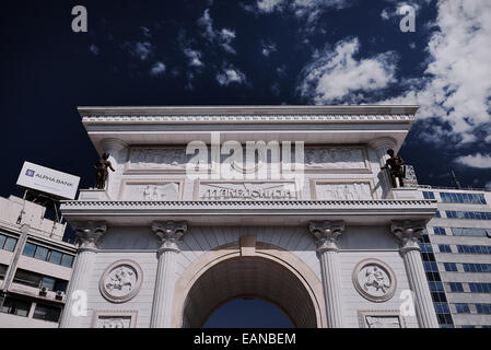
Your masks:
<svg viewBox="0 0 491 350"><path fill-rule="evenodd" d="M382 103L418 104L420 119L448 122L452 130L434 133L434 142L448 135L474 142L474 131L491 121L491 1L439 1L437 9L420 89Z"/></svg>

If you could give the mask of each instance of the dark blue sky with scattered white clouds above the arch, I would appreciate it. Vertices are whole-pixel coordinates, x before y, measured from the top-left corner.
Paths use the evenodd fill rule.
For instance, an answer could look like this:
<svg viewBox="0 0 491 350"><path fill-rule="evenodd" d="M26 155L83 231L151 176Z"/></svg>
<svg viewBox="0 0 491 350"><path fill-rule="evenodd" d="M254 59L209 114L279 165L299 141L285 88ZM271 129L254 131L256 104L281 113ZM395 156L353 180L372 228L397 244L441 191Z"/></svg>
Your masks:
<svg viewBox="0 0 491 350"><path fill-rule="evenodd" d="M420 104L401 149L420 184L452 186L452 167L491 188L491 2L471 2L408 1L416 33L395 0L3 3L0 195L24 161L94 185L85 105Z"/></svg>

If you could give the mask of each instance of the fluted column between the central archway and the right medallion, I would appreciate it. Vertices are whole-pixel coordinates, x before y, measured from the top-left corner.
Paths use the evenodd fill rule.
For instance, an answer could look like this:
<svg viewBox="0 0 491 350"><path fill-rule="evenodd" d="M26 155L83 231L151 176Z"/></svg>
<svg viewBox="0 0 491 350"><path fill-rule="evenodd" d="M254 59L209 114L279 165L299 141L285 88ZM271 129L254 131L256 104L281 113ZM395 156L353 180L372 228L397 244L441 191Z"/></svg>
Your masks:
<svg viewBox="0 0 491 350"><path fill-rule="evenodd" d="M338 256L338 237L344 231L343 221L311 222L309 231L316 238L320 257L324 299L326 301L327 327L342 328L341 276Z"/></svg>

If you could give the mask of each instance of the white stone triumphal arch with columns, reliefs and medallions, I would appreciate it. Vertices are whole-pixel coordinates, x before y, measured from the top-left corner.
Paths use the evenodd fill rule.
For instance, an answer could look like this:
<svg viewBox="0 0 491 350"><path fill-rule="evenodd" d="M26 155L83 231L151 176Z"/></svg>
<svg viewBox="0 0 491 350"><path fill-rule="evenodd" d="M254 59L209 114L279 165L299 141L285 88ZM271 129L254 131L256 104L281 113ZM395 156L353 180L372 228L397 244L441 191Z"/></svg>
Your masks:
<svg viewBox="0 0 491 350"><path fill-rule="evenodd" d="M383 168L417 109L80 107L115 172L61 205L60 326L201 327L261 298L296 327L437 327L418 244L435 203Z"/></svg>

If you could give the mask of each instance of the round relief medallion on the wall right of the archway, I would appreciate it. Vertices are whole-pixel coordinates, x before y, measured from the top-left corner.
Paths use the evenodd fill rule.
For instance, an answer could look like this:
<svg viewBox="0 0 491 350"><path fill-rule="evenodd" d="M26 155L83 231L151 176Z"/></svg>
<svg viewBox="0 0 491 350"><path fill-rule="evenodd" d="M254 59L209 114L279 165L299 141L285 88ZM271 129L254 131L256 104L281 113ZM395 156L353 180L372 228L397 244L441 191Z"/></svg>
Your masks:
<svg viewBox="0 0 491 350"><path fill-rule="evenodd" d="M360 261L353 270L352 279L356 291L375 303L390 300L396 292L396 275L387 264L378 259Z"/></svg>

